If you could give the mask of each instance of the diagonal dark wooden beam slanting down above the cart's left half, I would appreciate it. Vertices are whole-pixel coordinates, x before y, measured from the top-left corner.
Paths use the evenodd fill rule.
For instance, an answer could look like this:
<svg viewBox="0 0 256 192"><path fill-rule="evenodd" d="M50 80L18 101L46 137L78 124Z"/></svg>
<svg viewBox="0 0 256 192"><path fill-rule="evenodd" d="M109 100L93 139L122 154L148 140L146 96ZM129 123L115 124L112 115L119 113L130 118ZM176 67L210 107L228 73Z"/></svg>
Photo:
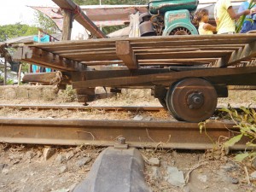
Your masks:
<svg viewBox="0 0 256 192"><path fill-rule="evenodd" d="M84 26L93 36L97 38L107 38L107 36L84 14L83 10L73 3L72 0L52 0L61 9L73 11L74 19Z"/></svg>

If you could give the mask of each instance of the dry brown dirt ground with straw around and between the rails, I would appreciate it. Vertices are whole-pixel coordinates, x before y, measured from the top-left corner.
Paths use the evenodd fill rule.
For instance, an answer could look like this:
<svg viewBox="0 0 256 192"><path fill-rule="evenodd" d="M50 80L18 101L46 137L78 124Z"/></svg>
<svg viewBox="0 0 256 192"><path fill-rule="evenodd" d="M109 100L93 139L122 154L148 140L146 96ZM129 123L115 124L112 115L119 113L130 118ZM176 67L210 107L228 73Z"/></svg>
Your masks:
<svg viewBox="0 0 256 192"><path fill-rule="evenodd" d="M148 90L124 90L122 95L96 102L90 106L160 106L160 103L150 96ZM242 102L241 102L242 101ZM72 104L63 99L52 101L40 100L2 100L0 104ZM248 106L256 103L255 91L230 91L230 97L219 99L219 106ZM159 113L131 113L101 110L92 112L67 110L26 110L19 108L0 109L0 118L69 118L69 119L134 119L137 115L148 120L173 120L166 111ZM72 191L83 181L98 154L104 148L91 146L60 147L0 144L0 191ZM139 148L145 161L145 179L148 186L155 192L253 192L256 191L256 160L238 164L233 160L234 154L221 158L209 159L205 151L183 151L162 148ZM50 155L48 155L48 153ZM239 152L233 152L239 153ZM159 165L151 163L152 158L159 160ZM174 167L182 172L184 183L174 184L170 172ZM256 174L256 172L255 172ZM250 181L250 183L248 183Z"/></svg>

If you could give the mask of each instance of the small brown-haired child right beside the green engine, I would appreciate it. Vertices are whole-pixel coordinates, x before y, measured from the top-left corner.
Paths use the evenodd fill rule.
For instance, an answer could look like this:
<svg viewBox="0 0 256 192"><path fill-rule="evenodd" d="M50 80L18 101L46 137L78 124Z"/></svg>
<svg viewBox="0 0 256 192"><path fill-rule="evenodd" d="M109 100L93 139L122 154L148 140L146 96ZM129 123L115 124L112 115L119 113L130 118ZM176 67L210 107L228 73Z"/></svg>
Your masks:
<svg viewBox="0 0 256 192"><path fill-rule="evenodd" d="M216 32L216 26L208 23L209 11L207 9L199 9L195 12L195 24L198 25L198 32L200 35L212 35Z"/></svg>

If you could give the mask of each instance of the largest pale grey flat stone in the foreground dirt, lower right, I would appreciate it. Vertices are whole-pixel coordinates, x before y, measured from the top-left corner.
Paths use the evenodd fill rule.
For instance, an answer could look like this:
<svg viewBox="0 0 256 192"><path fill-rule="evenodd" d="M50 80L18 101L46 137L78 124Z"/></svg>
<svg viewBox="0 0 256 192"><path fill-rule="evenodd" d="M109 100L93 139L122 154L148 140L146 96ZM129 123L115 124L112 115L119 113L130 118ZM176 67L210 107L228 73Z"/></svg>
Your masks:
<svg viewBox="0 0 256 192"><path fill-rule="evenodd" d="M181 187L185 184L183 172L178 171L177 167L168 166L167 177L165 177L165 179L167 182L177 187Z"/></svg>

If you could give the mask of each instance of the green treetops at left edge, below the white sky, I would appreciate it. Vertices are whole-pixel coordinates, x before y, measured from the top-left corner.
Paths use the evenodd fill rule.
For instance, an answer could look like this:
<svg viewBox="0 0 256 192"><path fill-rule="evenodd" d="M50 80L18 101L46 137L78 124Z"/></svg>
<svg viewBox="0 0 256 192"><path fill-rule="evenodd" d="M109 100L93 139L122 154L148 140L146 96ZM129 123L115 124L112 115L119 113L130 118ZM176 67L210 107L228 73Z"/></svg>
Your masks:
<svg viewBox="0 0 256 192"><path fill-rule="evenodd" d="M38 28L35 26L28 26L26 24L11 24L0 26L0 42L6 41L10 38L18 38L20 36L34 35L38 33Z"/></svg>

